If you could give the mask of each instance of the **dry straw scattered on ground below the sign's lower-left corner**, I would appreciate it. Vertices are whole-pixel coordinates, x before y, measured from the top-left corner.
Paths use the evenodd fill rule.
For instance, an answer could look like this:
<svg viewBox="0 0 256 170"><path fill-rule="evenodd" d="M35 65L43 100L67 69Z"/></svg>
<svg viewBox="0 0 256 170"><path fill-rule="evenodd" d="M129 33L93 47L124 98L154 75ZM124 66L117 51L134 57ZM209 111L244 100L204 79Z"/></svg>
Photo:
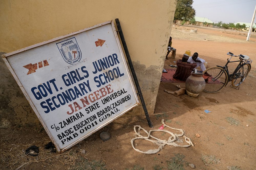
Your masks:
<svg viewBox="0 0 256 170"><path fill-rule="evenodd" d="M19 127L12 127L9 128L9 130L20 129ZM7 138L8 136L5 136L1 139L1 141ZM49 141L51 141L49 137L44 137L41 138L40 141L31 142L27 145L21 143L12 144L8 142L0 142L0 169L24 169L31 163L45 162L53 158L57 161L60 161L63 165L72 166L75 164L75 161L78 159L78 155L75 149L65 151L64 153L52 153L50 150L44 149L44 145L46 145ZM25 154L25 150L32 145L39 147L38 156Z"/></svg>

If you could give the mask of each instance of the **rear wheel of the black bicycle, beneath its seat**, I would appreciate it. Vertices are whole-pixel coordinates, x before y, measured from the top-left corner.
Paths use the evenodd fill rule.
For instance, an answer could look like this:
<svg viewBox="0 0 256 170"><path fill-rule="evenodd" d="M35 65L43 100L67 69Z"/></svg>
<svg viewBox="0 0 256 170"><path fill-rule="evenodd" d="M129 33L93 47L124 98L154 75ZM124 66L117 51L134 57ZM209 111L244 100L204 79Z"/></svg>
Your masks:
<svg viewBox="0 0 256 170"><path fill-rule="evenodd" d="M243 66L239 67L239 69L235 73L234 79L232 79L232 86L233 87L239 86L247 77L250 69L251 69L250 64L243 64Z"/></svg>

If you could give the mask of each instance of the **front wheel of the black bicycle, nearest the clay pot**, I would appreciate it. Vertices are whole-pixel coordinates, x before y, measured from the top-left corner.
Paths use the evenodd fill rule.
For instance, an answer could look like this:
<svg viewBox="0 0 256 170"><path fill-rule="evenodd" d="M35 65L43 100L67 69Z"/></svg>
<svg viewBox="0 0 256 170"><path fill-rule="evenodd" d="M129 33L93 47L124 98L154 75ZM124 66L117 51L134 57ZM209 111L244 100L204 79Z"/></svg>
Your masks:
<svg viewBox="0 0 256 170"><path fill-rule="evenodd" d="M205 84L204 91L207 93L216 93L228 83L228 74L221 67L210 67L205 72L211 75Z"/></svg>

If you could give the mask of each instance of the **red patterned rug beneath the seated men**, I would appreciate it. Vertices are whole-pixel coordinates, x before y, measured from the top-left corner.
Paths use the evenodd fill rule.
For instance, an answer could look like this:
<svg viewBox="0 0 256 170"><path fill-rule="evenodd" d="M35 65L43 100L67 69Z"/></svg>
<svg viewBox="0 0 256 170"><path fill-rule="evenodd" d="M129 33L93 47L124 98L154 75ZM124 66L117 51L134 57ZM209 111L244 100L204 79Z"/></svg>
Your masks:
<svg viewBox="0 0 256 170"><path fill-rule="evenodd" d="M167 71L167 73L162 73L162 77L161 77L161 82L170 82L170 83L185 83L185 81L179 80L179 79L174 79L173 75L176 71L176 69L165 69ZM204 79L207 78L212 78L206 75L203 75ZM207 84L222 84L220 81L215 81L213 82L211 79L208 79L208 81L206 82Z"/></svg>

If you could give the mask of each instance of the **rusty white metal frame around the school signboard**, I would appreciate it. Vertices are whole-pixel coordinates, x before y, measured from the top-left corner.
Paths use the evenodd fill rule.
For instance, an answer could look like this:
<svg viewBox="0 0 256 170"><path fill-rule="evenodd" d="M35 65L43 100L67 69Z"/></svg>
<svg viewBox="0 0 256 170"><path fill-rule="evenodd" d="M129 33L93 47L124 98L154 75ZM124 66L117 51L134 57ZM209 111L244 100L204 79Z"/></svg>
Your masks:
<svg viewBox="0 0 256 170"><path fill-rule="evenodd" d="M40 113L38 112L36 106L34 105L34 103L32 102L32 100L30 99L27 91L25 90L25 88L23 87L21 81L19 80L18 76L16 75L14 69L12 68L11 64L9 63L8 61L8 57L10 56L13 56L15 54L18 54L18 53L22 53L23 51L27 51L27 50L30 50L30 49L33 49L33 48L36 48L36 47L40 47L40 46L43 46L43 45L46 45L46 44L49 44L49 43L52 43L52 42L57 42L58 40L61 40L63 38L67 38L69 36L72 36L72 35L76 35L76 34L79 34L79 33L82 33L84 31L88 31L88 30L92 30L94 28L98 28L98 27L101 27L102 25L106 25L106 24L111 24L112 26L112 30L114 32L114 35L115 35L115 40L116 40L116 43L118 44L118 49L119 49L119 52L121 54L121 57L123 59L123 64L125 66L125 69L127 71L127 75L129 77L129 81L130 81L130 84L131 84L131 87L132 87L132 93L134 94L135 96L135 99L136 99L136 103L127 108L126 110L122 111L121 113L119 113L118 115L116 115L115 117L113 117L111 120L105 122L104 124L102 124L101 126L97 127L96 129L92 130L91 132L89 132L88 134L80 137L78 140L74 141L73 143L69 144L68 146L64 147L64 148L61 148L58 143L55 141L54 137L52 136L52 134L50 133L50 130L48 129L49 127L46 126L46 123L44 122L44 120L42 119ZM95 42L96 44L96 42ZM70 34L67 34L67 35L64 35L64 36L60 36L60 37L57 37L57 38L53 38L51 40L48 40L48 41L45 41L45 42L42 42L42 43L38 43L38 44L35 44L35 45L32 45L32 46L29 46L29 47L26 47L26 48L23 48L23 49L20 49L20 50L17 50L17 51L14 51L14 52L11 52L11 53L7 53L7 54L4 54L2 55L2 58L6 64L6 66L8 67L8 69L10 70L10 72L12 73L14 79L16 80L17 84L19 85L20 89L22 90L23 94L25 95L26 99L28 100L30 106L32 107L32 109L34 110L34 112L36 113L39 121L41 122L41 124L44 126L47 134L49 135L50 139L53 141L53 143L55 144L56 146L56 149L57 151L59 152L63 152L65 150L67 150L68 148L76 145L78 142L80 142L81 140L85 139L86 137L90 136L91 134L95 133L96 131L98 131L99 129L101 129L102 127L106 126L107 124L111 123L112 121L114 121L116 118L122 116L124 113L130 111L131 109L133 109L134 107L138 106L139 104L139 101L138 101L138 98L137 98L137 94L136 94L136 91L135 91L135 88L133 86L133 82L132 82L132 79L131 79L131 76L130 76L130 73L129 73L129 70L128 70L128 67L127 67L127 64L126 64L126 61L125 61L125 58L124 58L124 54L123 54L123 51L122 51L122 48L121 48L121 44L119 42L119 38L118 38L118 35L116 33L116 30L115 30L115 27L114 27L114 24L113 24L113 21L107 21L107 22L104 22L104 23L101 23L101 24L97 24L97 25L94 25L92 27L89 27L89 28L86 28L86 29L83 29L83 30L79 30L77 32L73 32L73 33L70 33ZM134 70L134 69L133 69ZM144 102L144 100L143 100ZM144 103L145 104L145 103ZM56 130L57 131L57 130Z"/></svg>

